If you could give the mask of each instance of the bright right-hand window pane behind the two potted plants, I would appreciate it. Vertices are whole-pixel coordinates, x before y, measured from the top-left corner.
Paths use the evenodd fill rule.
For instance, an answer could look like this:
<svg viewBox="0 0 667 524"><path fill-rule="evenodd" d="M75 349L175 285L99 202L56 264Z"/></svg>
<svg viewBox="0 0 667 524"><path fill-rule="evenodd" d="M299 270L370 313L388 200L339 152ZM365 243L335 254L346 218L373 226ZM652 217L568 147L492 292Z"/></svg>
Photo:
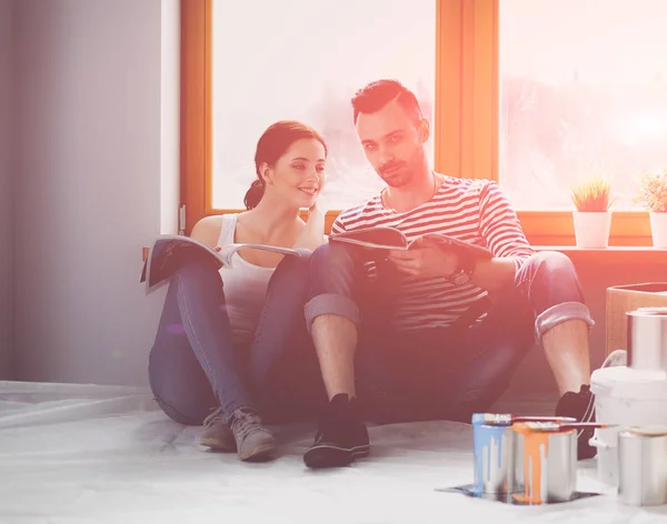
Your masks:
<svg viewBox="0 0 667 524"><path fill-rule="evenodd" d="M500 0L499 181L519 210L571 210L608 177L616 210L667 165L664 0Z"/></svg>

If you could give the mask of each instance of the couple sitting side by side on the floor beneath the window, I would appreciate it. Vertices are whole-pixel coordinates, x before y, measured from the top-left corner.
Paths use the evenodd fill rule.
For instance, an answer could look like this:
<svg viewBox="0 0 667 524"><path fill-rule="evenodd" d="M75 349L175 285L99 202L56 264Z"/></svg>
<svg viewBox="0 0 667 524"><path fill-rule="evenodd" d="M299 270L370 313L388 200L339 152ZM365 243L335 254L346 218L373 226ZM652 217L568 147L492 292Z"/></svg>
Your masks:
<svg viewBox="0 0 667 524"><path fill-rule="evenodd" d="M317 205L327 144L299 122L272 124L257 144L248 211L207 216L191 235L216 249L263 243L303 256L246 249L231 270L178 268L150 353L161 409L203 424L203 446L245 461L275 456L266 424L316 420L306 464L344 466L369 453L365 420L470 422L488 411L537 342L559 390L556 414L593 420L594 322L569 259L530 248L495 182L434 172L429 122L402 84L366 85L352 110L386 189L340 213L332 232L389 225L415 248L377 256L329 243ZM420 238L429 232L492 258L465 260ZM594 455L588 433L579 458Z"/></svg>

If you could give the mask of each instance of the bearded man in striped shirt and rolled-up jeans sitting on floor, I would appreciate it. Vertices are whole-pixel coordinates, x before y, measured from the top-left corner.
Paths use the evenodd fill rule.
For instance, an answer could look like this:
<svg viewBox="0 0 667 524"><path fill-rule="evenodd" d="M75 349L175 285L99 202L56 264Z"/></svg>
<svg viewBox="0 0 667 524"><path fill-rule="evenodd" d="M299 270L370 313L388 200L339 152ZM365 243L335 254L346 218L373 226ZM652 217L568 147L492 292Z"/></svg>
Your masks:
<svg viewBox="0 0 667 524"><path fill-rule="evenodd" d="M495 182L434 172L429 122L395 80L352 99L354 122L386 189L344 211L332 232L374 225L417 240L409 251L329 243L311 258L306 320L329 397L309 467L344 466L369 452L357 401L379 422L458 420L488 410L535 341L560 401L556 413L593 419L588 332L594 324L569 259L536 253ZM465 256L420 235L441 232L488 246ZM579 435L579 457L593 456Z"/></svg>

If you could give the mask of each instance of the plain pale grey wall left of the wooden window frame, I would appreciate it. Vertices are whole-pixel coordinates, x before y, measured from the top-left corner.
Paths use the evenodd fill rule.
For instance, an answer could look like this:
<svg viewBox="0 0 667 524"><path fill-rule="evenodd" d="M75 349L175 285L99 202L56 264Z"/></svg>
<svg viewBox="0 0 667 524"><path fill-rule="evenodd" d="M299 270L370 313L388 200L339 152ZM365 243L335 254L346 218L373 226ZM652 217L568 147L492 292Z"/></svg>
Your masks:
<svg viewBox="0 0 667 524"><path fill-rule="evenodd" d="M163 294L143 296L141 248L176 229L178 0L13 6L18 377L143 385Z"/></svg>

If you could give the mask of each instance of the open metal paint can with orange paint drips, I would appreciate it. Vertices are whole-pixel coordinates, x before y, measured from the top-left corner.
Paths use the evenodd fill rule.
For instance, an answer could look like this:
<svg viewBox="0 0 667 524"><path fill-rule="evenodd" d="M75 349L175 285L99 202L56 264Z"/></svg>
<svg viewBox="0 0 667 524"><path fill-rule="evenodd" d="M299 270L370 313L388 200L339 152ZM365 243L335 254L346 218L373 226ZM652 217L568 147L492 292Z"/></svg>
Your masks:
<svg viewBox="0 0 667 524"><path fill-rule="evenodd" d="M552 422L511 427L512 496L525 504L570 501L577 490L577 431Z"/></svg>

